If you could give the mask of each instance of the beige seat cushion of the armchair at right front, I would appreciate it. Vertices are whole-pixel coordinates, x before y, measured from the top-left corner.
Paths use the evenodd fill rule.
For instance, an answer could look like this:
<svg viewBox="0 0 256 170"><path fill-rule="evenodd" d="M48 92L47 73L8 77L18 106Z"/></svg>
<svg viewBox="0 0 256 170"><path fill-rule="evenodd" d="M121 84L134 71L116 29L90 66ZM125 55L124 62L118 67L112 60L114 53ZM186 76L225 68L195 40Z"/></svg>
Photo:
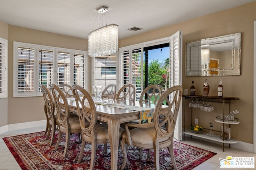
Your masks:
<svg viewBox="0 0 256 170"><path fill-rule="evenodd" d="M135 128L130 130L132 141L135 143L153 145L154 137L156 135L156 129L154 127L149 128ZM122 137L127 139L127 133L125 132ZM159 142L165 141L168 138L160 137Z"/></svg>

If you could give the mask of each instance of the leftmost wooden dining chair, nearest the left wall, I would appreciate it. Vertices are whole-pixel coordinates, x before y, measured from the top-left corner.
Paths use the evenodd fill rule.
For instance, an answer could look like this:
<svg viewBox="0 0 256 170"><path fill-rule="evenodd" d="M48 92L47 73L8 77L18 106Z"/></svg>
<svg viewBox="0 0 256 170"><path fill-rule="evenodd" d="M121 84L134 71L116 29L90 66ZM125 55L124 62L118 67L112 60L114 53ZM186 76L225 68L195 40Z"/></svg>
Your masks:
<svg viewBox="0 0 256 170"><path fill-rule="evenodd" d="M59 125L59 121L58 121L57 115L54 115L55 105L54 105L54 100L52 98L52 94L51 94L50 90L43 84L41 84L41 90L42 90L42 94L44 96L44 102L45 102L44 113L46 114L46 120L47 120L46 129L48 131L48 134L47 134L46 140L49 139L50 132L52 129L52 136L51 136L51 141L50 141L50 146L52 146L53 141L54 141L55 131ZM44 133L44 135L46 135L46 132Z"/></svg>

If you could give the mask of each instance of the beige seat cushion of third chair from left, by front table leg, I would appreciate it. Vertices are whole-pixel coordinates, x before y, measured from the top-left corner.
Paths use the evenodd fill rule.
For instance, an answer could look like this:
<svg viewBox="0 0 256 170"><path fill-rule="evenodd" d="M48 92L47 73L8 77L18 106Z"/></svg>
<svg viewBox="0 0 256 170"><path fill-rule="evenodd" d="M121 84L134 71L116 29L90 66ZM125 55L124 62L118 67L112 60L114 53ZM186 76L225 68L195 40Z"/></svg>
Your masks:
<svg viewBox="0 0 256 170"><path fill-rule="evenodd" d="M95 125L94 128L95 128L95 131L96 131L97 140L108 140L109 139L108 124L107 123L97 124L97 125ZM124 132L125 132L125 130L122 127L120 127L118 137L121 138L122 134ZM91 133L86 133L84 135L92 137Z"/></svg>

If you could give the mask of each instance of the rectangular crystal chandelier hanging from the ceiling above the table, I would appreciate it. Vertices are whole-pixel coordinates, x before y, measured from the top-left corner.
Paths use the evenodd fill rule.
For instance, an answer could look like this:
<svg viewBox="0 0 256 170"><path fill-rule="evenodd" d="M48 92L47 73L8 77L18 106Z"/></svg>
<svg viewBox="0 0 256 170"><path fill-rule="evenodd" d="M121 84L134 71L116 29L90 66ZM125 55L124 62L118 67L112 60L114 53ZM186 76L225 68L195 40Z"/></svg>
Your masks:
<svg viewBox="0 0 256 170"><path fill-rule="evenodd" d="M101 7L97 10L97 12L101 14L101 22L103 13L107 11L108 8L106 7ZM112 23L95 29L89 33L88 43L89 55L91 57L106 56L116 53L116 51L118 51L118 25Z"/></svg>

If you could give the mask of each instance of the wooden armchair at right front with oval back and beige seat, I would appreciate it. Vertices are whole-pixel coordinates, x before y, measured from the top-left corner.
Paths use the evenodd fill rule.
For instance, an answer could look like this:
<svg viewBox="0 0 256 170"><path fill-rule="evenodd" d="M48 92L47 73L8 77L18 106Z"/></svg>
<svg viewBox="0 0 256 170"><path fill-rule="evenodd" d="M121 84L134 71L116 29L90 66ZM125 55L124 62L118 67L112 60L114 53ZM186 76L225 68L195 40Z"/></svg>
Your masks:
<svg viewBox="0 0 256 170"><path fill-rule="evenodd" d="M169 95L171 96L171 101L166 100ZM144 124L126 124L126 132L122 135L121 141L121 149L124 154L124 164L122 169L128 164L127 150L129 145L144 149L154 149L156 170L160 170L159 150L168 147L174 169L177 169L173 152L173 137L181 99L182 87L172 86L158 99L153 113L153 122ZM166 107L162 107L164 101L168 103ZM161 127L164 124L166 124L166 128L162 129ZM130 130L129 127L135 128Z"/></svg>

